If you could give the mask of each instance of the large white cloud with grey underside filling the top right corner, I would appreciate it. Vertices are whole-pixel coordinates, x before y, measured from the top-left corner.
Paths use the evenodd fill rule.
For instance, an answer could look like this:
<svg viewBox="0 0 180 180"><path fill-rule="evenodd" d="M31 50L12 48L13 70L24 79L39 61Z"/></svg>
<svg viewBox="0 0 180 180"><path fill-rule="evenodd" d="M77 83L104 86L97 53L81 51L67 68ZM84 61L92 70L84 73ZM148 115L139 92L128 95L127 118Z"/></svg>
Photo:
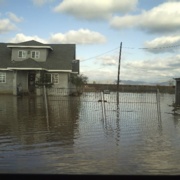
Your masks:
<svg viewBox="0 0 180 180"><path fill-rule="evenodd" d="M148 33L167 33L179 31L180 2L168 1L139 15L115 16L110 25L116 29L136 27Z"/></svg>

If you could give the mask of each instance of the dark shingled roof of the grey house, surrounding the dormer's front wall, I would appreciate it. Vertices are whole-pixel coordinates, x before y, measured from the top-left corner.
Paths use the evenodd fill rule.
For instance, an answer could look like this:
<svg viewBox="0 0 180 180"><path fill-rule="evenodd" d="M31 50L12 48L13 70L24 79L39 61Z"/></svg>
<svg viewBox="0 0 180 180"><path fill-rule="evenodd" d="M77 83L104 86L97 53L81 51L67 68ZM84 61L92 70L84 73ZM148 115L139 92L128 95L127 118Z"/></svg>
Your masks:
<svg viewBox="0 0 180 180"><path fill-rule="evenodd" d="M28 46L46 48L51 47L53 50L49 51L46 62L38 62L31 58L23 61L11 61L11 48L13 46ZM0 69L3 68L43 68L51 71L77 71L77 68L73 68L72 61L75 57L75 44L43 44L37 41L26 41L22 43L0 43Z"/></svg>

